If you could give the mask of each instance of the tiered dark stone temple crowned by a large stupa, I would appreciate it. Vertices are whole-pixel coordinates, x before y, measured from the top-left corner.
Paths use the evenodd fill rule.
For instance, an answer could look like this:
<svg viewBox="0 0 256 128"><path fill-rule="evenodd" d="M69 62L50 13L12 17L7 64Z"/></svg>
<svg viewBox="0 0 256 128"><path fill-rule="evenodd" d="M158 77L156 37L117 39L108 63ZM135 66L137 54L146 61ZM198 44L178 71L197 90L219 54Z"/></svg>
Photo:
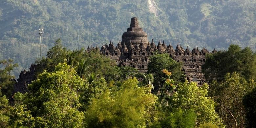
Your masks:
<svg viewBox="0 0 256 128"><path fill-rule="evenodd" d="M118 41L116 47L113 46L113 42L110 42L109 45L107 43L103 44L100 49L101 54L116 60L118 66L130 66L138 69L141 73L147 72L149 58L154 55L154 51L168 53L175 61L183 62L182 70L185 72L188 81L195 81L201 85L205 82L202 65L205 62L205 54L209 53L206 48L200 51L194 47L190 51L188 47L183 49L179 43L174 49L171 43L168 45L161 40L157 45L153 39L149 42L147 33L139 28L137 17L131 19L130 27L127 32L123 33L122 40L121 42ZM212 53L215 52L214 50Z"/></svg>

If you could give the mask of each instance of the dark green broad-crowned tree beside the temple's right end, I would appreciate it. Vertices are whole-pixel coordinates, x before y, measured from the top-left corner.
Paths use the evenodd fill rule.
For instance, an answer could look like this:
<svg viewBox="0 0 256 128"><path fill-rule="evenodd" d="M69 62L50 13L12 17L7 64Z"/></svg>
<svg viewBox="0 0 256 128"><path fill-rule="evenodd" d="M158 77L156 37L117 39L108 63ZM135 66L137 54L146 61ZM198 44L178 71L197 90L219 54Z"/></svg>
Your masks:
<svg viewBox="0 0 256 128"><path fill-rule="evenodd" d="M237 72L245 79L256 78L256 53L248 47L241 49L238 45L230 45L227 51L207 54L203 65L203 73L207 79L217 78L221 81L227 73Z"/></svg>

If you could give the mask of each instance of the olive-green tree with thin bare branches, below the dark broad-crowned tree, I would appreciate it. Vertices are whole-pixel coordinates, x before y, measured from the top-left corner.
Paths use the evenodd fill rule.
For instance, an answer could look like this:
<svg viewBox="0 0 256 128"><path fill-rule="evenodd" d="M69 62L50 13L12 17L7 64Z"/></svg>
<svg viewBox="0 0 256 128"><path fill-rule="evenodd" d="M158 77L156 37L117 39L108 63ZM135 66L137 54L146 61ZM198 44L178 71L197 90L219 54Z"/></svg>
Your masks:
<svg viewBox="0 0 256 128"><path fill-rule="evenodd" d="M243 97L255 83L248 83L238 73L226 74L220 83L213 81L209 95L216 101L216 110L227 127L245 127Z"/></svg>

